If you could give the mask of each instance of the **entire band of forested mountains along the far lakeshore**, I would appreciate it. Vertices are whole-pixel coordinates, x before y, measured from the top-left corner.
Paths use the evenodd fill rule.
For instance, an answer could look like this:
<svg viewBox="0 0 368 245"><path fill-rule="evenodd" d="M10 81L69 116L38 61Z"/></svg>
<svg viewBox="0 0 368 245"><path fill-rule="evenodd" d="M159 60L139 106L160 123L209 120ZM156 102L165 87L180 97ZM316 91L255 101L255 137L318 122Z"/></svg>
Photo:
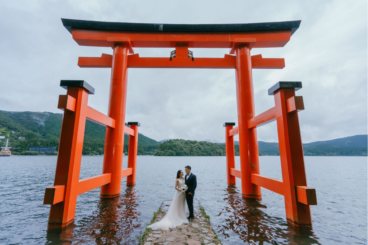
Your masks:
<svg viewBox="0 0 368 245"><path fill-rule="evenodd" d="M0 129L13 131L10 143L18 152L30 146L59 147L63 114L51 112L0 111ZM83 154L102 155L105 145L105 127L86 121ZM25 140L18 140L19 136ZM368 136L355 135L328 141L303 144L305 156L367 156ZM215 144L192 140L162 140L158 142L138 134L138 155L156 156L224 156L224 143ZM3 142L0 142L2 145ZM239 142L235 142L235 155L239 155ZM157 148L156 148L157 147ZM279 143L258 141L260 155L280 155ZM124 152L128 151L128 137L124 137Z"/></svg>

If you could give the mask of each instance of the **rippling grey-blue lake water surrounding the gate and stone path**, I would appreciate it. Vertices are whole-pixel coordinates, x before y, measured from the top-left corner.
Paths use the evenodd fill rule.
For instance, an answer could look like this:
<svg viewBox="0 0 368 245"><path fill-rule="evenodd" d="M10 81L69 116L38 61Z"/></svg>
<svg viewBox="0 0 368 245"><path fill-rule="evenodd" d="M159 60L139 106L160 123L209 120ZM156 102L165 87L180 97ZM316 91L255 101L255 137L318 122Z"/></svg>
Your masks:
<svg viewBox="0 0 368 245"><path fill-rule="evenodd" d="M101 174L102 160L83 156L81 179ZM261 174L281 179L278 156L259 161ZM153 212L174 196L176 172L186 165L197 176L195 198L223 244L367 244L367 157L354 156L305 157L318 205L311 206L312 230L302 232L287 226L281 195L262 188L262 199L245 199L239 179L228 186L223 156L138 156L134 187L123 178L120 197L100 199L99 188L79 195L74 224L47 231L49 205L42 203L56 156L2 157L0 244L138 244Z"/></svg>

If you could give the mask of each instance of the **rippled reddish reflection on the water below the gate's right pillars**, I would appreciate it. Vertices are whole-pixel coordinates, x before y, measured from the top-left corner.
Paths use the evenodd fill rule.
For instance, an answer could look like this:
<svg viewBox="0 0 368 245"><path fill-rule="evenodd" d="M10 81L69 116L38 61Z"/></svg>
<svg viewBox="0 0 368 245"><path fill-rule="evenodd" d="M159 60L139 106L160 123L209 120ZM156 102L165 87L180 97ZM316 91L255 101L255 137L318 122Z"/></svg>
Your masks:
<svg viewBox="0 0 368 245"><path fill-rule="evenodd" d="M267 215L262 209L261 199L244 198L234 185L226 189L224 220L220 232L228 238L236 233L250 244L319 244L311 228L294 229L285 220ZM221 213L219 214L222 215Z"/></svg>

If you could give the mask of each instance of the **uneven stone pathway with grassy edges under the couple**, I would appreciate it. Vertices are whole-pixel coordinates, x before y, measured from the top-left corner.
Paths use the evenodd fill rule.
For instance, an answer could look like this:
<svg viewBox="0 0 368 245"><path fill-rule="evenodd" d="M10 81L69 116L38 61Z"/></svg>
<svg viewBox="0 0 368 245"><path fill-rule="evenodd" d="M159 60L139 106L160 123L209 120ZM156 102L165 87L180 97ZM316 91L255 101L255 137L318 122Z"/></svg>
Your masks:
<svg viewBox="0 0 368 245"><path fill-rule="evenodd" d="M170 204L170 200L165 200L161 204L153 223L165 216ZM206 213L197 199L194 199L193 206L195 218L189 224L182 224L176 228L170 228L168 231L146 229L139 245L221 245L209 219L205 218ZM187 216L189 216L188 213Z"/></svg>

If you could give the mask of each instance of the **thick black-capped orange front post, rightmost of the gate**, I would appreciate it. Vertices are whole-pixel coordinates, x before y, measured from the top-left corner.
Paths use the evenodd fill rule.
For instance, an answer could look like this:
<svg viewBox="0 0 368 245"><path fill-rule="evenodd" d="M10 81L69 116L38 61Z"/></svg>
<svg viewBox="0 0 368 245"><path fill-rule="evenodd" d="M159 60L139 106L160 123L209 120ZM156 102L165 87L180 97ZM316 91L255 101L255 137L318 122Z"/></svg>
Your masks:
<svg viewBox="0 0 368 245"><path fill-rule="evenodd" d="M295 226L312 227L309 205L317 205L317 198L315 189L307 186L305 174L298 118L304 103L301 96L295 96L295 90L299 88L301 82L300 85L299 82L278 82L268 93L275 97L286 219Z"/></svg>

